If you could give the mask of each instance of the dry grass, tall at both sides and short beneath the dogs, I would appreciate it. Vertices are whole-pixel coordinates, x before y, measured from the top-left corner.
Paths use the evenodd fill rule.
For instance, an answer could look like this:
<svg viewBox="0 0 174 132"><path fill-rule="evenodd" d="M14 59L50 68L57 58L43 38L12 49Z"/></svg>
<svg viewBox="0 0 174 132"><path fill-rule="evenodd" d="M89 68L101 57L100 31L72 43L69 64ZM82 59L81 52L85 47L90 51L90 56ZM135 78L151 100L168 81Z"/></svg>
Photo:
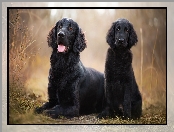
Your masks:
<svg viewBox="0 0 174 132"><path fill-rule="evenodd" d="M24 84L28 79L25 71L28 70L31 61L37 59L38 49L34 46L36 41L31 33L33 31L21 20L18 10L10 12L9 25L9 124L166 124L166 82L163 81L165 78L160 76L163 73L154 67L156 42L153 48L152 63L149 64L149 67L143 67L144 44L143 41L141 43L140 86L143 87L141 87L143 115L139 120L122 120L119 117L99 120L96 118L97 114L71 119L60 117L55 120L33 112L35 107L41 106L44 101L42 96L38 96L32 91L26 91ZM142 30L140 32L142 33Z"/></svg>

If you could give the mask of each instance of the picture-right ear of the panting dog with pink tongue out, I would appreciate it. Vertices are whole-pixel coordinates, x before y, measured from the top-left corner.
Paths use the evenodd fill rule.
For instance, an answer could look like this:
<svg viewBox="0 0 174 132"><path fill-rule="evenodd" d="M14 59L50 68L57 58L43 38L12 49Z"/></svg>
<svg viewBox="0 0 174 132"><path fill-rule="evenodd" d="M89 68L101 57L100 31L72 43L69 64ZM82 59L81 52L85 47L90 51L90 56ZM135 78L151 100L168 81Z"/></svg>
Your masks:
<svg viewBox="0 0 174 132"><path fill-rule="evenodd" d="M86 48L85 34L82 32L82 29L79 28L73 45L73 50L74 52L82 52L85 48Z"/></svg>

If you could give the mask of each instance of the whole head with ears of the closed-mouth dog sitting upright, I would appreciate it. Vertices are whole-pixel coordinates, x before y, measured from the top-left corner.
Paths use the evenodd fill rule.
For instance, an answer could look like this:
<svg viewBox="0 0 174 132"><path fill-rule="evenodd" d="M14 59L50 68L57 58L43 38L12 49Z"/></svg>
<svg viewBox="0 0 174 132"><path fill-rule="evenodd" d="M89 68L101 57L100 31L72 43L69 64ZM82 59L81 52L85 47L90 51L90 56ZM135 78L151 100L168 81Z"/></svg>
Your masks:
<svg viewBox="0 0 174 132"><path fill-rule="evenodd" d="M120 18L112 24L107 33L106 40L111 48L122 47L130 49L138 42L133 25L124 18Z"/></svg>

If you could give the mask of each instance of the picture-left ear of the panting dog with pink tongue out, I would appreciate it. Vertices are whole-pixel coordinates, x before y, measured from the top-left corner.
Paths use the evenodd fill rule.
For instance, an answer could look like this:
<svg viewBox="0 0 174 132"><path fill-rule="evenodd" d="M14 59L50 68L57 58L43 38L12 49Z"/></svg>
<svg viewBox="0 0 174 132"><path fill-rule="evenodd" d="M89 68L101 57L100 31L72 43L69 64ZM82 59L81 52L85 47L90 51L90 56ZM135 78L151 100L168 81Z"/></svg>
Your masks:
<svg viewBox="0 0 174 132"><path fill-rule="evenodd" d="M57 46L57 25L58 25L58 22L56 23L54 27L52 27L52 29L49 31L49 34L47 36L48 46L52 47L53 49L56 48Z"/></svg>

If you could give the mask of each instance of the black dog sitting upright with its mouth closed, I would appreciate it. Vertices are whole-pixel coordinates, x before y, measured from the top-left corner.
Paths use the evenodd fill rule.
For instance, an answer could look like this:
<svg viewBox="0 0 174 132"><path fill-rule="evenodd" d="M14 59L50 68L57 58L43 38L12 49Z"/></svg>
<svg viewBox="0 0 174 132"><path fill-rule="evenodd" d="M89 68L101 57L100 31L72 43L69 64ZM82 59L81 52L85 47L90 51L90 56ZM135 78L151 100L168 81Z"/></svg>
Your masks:
<svg viewBox="0 0 174 132"><path fill-rule="evenodd" d="M121 116L140 118L142 97L132 68L130 48L135 45L137 34L133 25L126 19L118 19L106 37L110 48L105 63L106 107L98 118Z"/></svg>

